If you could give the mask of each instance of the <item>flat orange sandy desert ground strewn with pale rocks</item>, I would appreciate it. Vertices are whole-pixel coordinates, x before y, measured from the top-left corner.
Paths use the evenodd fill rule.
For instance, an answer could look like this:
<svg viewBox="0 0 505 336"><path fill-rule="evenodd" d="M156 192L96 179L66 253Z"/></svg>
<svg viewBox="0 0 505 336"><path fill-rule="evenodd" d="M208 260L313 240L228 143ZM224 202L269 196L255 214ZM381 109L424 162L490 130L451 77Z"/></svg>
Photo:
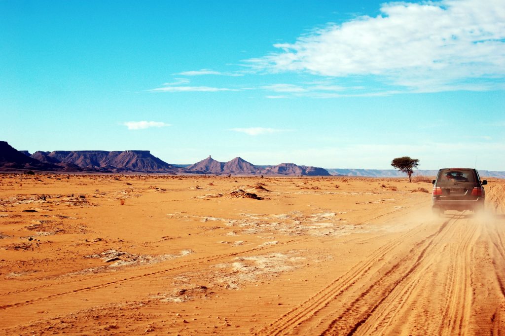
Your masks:
<svg viewBox="0 0 505 336"><path fill-rule="evenodd" d="M0 175L0 334L505 334L505 181L431 187Z"/></svg>

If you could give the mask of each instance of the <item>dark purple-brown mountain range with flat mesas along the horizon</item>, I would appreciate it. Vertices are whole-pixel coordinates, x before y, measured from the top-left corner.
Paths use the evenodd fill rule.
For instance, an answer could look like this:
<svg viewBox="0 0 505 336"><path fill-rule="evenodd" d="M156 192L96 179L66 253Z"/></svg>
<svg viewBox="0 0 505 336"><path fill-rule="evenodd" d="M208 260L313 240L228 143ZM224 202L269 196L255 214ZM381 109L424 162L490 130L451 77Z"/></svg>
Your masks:
<svg viewBox="0 0 505 336"><path fill-rule="evenodd" d="M149 151L18 151L6 141L0 141L0 171L61 171L61 172L137 172L160 174L216 174L216 175L267 175L267 176L363 176L405 177L395 169L324 169L281 163L276 166L257 166L237 157L219 162L211 156L192 165L168 164ZM416 170L415 174L435 176L438 170ZM503 171L479 170L482 177L505 178Z"/></svg>

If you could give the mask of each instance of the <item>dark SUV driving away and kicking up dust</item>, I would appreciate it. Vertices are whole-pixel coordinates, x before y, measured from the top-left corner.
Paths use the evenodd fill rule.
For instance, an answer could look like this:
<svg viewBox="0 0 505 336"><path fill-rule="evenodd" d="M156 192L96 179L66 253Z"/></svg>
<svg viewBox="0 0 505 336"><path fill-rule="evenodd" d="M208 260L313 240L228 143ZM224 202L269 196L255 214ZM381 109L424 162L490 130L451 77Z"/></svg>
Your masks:
<svg viewBox="0 0 505 336"><path fill-rule="evenodd" d="M440 215L445 210L484 210L484 187L473 168L442 168L432 181L431 209Z"/></svg>

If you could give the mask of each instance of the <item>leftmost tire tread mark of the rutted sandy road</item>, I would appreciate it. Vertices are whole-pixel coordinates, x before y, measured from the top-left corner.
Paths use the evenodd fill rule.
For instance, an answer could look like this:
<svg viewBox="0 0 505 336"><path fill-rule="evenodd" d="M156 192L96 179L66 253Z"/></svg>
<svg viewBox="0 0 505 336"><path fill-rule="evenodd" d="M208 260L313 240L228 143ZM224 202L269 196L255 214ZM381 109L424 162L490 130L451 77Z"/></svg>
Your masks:
<svg viewBox="0 0 505 336"><path fill-rule="evenodd" d="M291 311L285 313L276 321L260 330L259 334L265 335L278 335L286 333L287 329L295 328L297 325L309 319L311 316L317 314L320 310L324 309L335 297L342 294L345 290L351 287L356 281L362 278L376 262L377 259L383 258L387 253L394 249L400 242L406 238L415 235L421 231L423 224L418 225L414 229L409 230L407 233L392 239L389 243L384 244L376 249L367 260L358 263L352 267L342 276L333 280L329 285L324 287L321 291L316 293L305 302L299 304Z"/></svg>

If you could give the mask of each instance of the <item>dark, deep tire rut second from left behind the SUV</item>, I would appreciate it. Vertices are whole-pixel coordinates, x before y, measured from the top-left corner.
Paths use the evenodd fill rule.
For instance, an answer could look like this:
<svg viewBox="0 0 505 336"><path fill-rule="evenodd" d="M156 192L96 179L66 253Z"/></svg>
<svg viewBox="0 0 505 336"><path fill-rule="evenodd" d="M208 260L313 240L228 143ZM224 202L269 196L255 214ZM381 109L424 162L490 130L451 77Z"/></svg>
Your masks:
<svg viewBox="0 0 505 336"><path fill-rule="evenodd" d="M387 299L387 297L393 292L393 290L395 289L395 287L399 283L401 283L403 280L405 280L407 277L409 277L409 275L411 275L419 267L421 261L424 259L425 255L426 255L426 252L429 250L429 248L431 246L433 246L434 238L436 236L438 236L447 227L447 225L451 221L452 221L451 219L445 221L439 227L439 229L435 233L427 236L421 242L419 242L418 244L416 244L416 247L421 247L423 245L425 245L425 247L421 250L421 252L417 256L417 258L415 259L413 265L408 269L407 272L405 272L404 274L402 274L397 280L395 280L393 282L389 282L390 284L386 285L386 288L380 293L380 296L379 296L380 300L376 301L376 303L373 305L373 307L371 307L368 310L368 312L365 312L365 316L363 316L362 318L360 318L357 323L355 323L352 327L350 327L350 329L348 329L348 331L341 330L342 328L339 328L338 323L340 321L349 321L350 319L352 319L352 317L353 317L352 315L353 314L356 314L356 313L361 314L360 312L354 312L352 310L352 308L345 310L340 316L338 316L336 319L334 319L329 324L329 326L321 333L321 335L328 335L328 334L334 334L334 333L337 333L337 334L345 333L347 335L354 334L358 330L358 328L362 324L364 324L368 320L368 318L375 312L375 310L384 302L384 300ZM413 248L411 250L411 252L413 252L414 250L415 250L415 248ZM398 263L396 263L395 265L393 265L386 273L384 273L383 276L380 277L380 279L378 279L373 284L371 284L367 288L367 290L365 290L358 298L356 298L356 300L354 300L352 303L350 303L349 306L350 307L356 307L357 304L360 301L364 300L364 298L375 289L375 287L380 287L380 285L383 282L386 282L386 284L387 284L388 283L387 277L389 275L393 274L397 269L399 269L400 266L402 264L404 264L406 262L406 260L408 260L408 259L410 259L410 258L402 259ZM386 280L386 281L384 281L384 280Z"/></svg>

